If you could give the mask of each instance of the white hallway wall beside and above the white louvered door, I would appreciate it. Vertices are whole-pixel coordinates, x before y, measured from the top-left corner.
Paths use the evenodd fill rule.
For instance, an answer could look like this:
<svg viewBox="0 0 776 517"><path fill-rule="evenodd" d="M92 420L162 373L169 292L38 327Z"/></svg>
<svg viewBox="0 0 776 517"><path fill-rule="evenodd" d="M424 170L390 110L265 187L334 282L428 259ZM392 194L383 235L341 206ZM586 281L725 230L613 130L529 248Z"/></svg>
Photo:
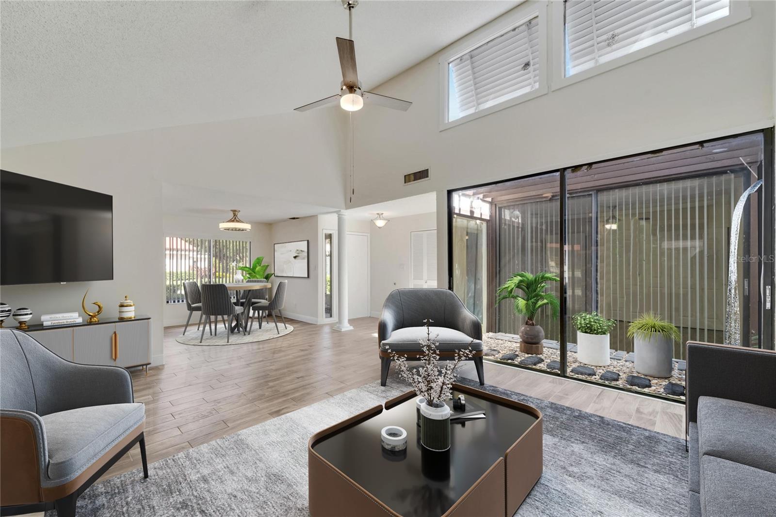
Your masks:
<svg viewBox="0 0 776 517"><path fill-rule="evenodd" d="M407 217L392 217L382 228L371 225L371 284L372 316L379 317L383 302L394 289L411 286L410 232L433 230L437 227L436 213L420 213Z"/></svg>

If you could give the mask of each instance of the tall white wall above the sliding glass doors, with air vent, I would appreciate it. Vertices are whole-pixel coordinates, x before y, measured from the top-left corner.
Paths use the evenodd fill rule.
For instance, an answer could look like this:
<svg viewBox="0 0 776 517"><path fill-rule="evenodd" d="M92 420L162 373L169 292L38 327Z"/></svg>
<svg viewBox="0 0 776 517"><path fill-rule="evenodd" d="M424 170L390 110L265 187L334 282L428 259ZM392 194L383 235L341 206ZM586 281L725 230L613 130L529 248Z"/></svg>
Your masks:
<svg viewBox="0 0 776 517"><path fill-rule="evenodd" d="M437 191L444 286L447 189L770 127L776 3L750 7L745 22L444 131L432 56L373 88L411 100L406 113L353 115L359 189L350 206ZM423 168L429 181L403 185Z"/></svg>

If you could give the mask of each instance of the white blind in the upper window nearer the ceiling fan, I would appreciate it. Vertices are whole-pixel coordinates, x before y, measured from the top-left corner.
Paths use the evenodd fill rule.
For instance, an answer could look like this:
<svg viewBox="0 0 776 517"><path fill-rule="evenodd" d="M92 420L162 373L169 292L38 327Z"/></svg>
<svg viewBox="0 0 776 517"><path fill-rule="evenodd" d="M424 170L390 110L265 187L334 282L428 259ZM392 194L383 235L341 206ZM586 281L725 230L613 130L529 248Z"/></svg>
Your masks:
<svg viewBox="0 0 776 517"><path fill-rule="evenodd" d="M448 120L539 87L539 16L449 63Z"/></svg>

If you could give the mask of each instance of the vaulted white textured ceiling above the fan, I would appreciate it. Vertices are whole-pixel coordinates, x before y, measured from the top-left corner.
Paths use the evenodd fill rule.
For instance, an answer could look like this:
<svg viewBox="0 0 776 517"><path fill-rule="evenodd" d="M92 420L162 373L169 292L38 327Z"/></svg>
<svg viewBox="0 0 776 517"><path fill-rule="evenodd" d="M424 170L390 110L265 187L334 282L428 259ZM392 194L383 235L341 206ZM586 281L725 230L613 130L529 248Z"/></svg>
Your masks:
<svg viewBox="0 0 776 517"><path fill-rule="evenodd" d="M379 85L517 3L362 0L359 78ZM290 114L338 92L348 36L340 0L0 9L2 147Z"/></svg>

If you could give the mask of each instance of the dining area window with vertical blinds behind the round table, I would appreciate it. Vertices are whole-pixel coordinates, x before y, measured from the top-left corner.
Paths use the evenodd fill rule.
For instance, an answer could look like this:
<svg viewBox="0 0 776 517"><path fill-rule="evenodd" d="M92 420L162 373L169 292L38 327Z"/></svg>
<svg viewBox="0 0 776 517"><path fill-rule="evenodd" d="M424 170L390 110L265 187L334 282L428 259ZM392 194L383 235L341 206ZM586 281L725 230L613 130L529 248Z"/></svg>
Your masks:
<svg viewBox="0 0 776 517"><path fill-rule="evenodd" d="M250 241L165 237L166 302L185 302L184 282L234 282L237 267L250 262Z"/></svg>

